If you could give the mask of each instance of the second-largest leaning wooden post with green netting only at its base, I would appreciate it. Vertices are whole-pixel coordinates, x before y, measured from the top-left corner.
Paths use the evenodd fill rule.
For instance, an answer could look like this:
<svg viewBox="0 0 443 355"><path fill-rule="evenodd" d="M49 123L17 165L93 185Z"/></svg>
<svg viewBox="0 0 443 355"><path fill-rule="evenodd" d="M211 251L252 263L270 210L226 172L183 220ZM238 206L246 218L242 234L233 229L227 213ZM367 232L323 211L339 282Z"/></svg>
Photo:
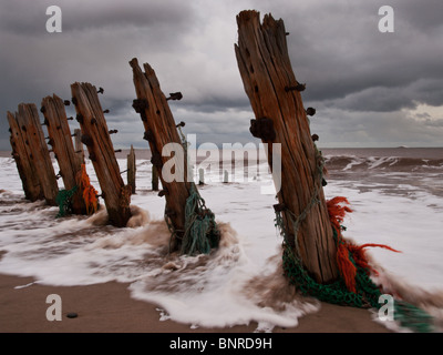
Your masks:
<svg viewBox="0 0 443 355"><path fill-rule="evenodd" d="M138 67L136 58L130 64L137 97L133 106L141 114L144 139L148 141L152 152L151 162L162 181L159 195L166 199L165 221L172 232L171 248L186 254L208 253L218 245L219 233L214 214L206 209L194 182L188 180L187 148L182 145L167 103L168 100L179 100L182 94L176 92L166 98L150 64L144 64L145 72ZM164 166L167 174L164 174Z"/></svg>

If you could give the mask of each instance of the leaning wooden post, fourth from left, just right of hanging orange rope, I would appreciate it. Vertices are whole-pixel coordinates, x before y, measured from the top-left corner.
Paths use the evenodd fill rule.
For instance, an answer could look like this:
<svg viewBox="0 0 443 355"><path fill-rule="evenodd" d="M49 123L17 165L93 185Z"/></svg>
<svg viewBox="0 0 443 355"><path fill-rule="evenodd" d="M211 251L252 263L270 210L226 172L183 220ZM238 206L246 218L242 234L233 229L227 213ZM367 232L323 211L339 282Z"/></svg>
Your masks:
<svg viewBox="0 0 443 355"><path fill-rule="evenodd" d="M97 90L90 83L75 82L71 84L71 92L82 142L87 148L99 179L109 221L112 225L125 226L131 217L131 186L123 183L120 174Z"/></svg>

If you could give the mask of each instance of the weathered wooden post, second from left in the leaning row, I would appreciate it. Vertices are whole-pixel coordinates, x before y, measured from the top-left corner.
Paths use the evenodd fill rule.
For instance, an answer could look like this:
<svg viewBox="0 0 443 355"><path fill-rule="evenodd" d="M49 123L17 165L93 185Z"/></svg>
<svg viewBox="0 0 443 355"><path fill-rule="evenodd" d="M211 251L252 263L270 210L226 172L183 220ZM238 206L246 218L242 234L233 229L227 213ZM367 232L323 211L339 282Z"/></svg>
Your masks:
<svg viewBox="0 0 443 355"><path fill-rule="evenodd" d="M44 142L42 124L35 104L20 103L17 119L20 128L27 131L30 149L29 156L39 176L43 199L47 201L47 204L56 205L55 199L59 193L59 185L56 183L51 155Z"/></svg>

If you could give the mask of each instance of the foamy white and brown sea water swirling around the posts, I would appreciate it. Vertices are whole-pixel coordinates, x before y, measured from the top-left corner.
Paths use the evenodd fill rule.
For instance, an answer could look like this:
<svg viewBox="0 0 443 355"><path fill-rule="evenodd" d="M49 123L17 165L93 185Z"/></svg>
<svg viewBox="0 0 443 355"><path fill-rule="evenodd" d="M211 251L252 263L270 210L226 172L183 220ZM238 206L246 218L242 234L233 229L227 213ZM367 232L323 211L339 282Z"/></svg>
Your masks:
<svg viewBox="0 0 443 355"><path fill-rule="evenodd" d="M344 236L401 251L368 253L403 288L440 300L443 149L322 153L329 172L326 197L346 196L353 210L344 221ZM134 220L124 229L106 225L104 209L91 217L56 219L58 207L24 200L14 161L0 158L0 273L61 286L130 283L134 298L157 304L161 321L171 318L193 328L255 321L257 332L271 331L296 326L301 315L319 308L318 302L297 296L281 276L276 199L261 193L264 186L272 186L266 162L249 166L247 178L237 168L228 183L223 183L224 169L205 165L206 184L199 193L216 215L223 241L209 255L178 256L168 253L164 199L151 191L152 165L145 153L136 154ZM117 155L121 171L126 169L124 156ZM58 171L56 162L54 168ZM92 164L86 169L100 191Z"/></svg>

